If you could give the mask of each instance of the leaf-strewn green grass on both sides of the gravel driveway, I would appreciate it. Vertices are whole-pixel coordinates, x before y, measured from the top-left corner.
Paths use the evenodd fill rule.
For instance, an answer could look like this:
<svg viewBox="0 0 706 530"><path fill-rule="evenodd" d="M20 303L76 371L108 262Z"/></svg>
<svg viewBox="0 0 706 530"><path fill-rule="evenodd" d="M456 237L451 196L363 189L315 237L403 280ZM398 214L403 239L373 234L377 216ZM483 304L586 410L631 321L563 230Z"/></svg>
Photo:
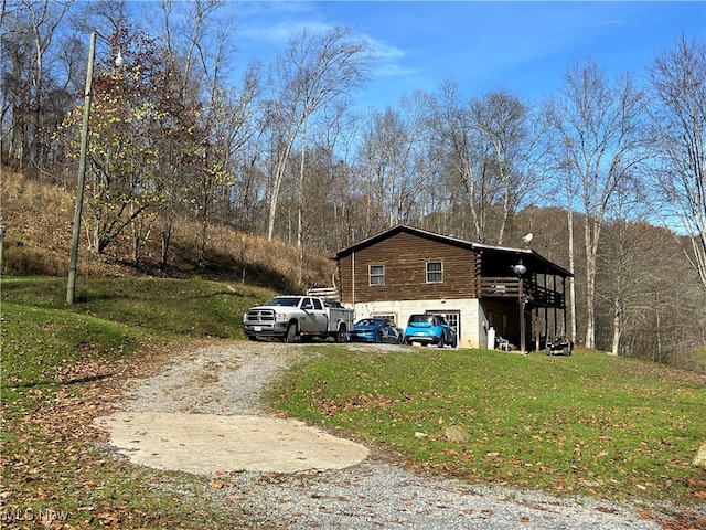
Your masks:
<svg viewBox="0 0 706 530"><path fill-rule="evenodd" d="M92 421L170 352L244 339L243 312L271 293L79 278L77 303L66 306L64 278L4 277L0 287L3 513L54 510L66 528L238 528L208 501L207 480L116 459ZM320 361L296 367L272 406L362 435L413 468L560 494L706 499L706 471L689 466L706 438L704 375L580 350L306 348ZM449 426L468 442L446 441ZM3 528L22 528L15 522Z"/></svg>

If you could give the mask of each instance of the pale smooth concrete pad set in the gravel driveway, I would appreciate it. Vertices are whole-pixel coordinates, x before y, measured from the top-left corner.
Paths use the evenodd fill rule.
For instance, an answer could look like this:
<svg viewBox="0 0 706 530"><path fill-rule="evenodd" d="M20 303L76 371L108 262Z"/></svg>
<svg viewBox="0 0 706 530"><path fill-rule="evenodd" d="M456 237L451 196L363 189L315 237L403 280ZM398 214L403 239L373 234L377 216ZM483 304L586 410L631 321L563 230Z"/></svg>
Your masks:
<svg viewBox="0 0 706 530"><path fill-rule="evenodd" d="M119 412L99 417L110 445L133 464L211 475L343 469L366 447L297 420L179 412Z"/></svg>

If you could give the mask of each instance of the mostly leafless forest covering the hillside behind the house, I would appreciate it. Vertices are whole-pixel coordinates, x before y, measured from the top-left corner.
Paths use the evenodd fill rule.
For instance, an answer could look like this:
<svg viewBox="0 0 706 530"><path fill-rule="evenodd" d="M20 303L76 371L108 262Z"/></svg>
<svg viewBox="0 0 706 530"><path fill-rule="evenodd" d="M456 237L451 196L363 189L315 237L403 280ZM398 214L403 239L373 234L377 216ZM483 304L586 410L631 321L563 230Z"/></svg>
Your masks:
<svg viewBox="0 0 706 530"><path fill-rule="evenodd" d="M73 199L89 100L81 243L103 263L302 289L331 282L312 256L399 223L512 247L531 232L575 273L578 343L661 362L706 343L706 42L674 35L641 76L573 62L538 103L447 78L360 112L376 57L355 29L303 30L236 78L223 7L2 2L6 273L64 273L12 201L44 190L71 222L43 193ZM42 230L66 246L69 225Z"/></svg>

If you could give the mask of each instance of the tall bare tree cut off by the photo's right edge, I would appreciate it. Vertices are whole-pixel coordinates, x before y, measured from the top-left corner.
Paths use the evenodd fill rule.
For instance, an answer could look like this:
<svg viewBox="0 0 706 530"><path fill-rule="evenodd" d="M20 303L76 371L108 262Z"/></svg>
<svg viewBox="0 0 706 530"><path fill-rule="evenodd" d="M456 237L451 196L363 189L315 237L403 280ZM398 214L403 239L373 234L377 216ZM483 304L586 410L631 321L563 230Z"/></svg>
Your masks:
<svg viewBox="0 0 706 530"><path fill-rule="evenodd" d="M706 288L706 42L682 35L655 57L650 80L661 210L688 234L686 255Z"/></svg>

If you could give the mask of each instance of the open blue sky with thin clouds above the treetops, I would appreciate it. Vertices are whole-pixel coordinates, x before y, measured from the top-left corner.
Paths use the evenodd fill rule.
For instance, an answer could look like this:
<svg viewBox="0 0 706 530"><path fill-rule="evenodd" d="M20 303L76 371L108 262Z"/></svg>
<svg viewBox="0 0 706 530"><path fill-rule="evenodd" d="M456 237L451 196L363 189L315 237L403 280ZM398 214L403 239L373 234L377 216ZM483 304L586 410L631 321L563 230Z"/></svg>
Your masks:
<svg viewBox="0 0 706 530"><path fill-rule="evenodd" d="M706 2L233 2L239 57L265 64L302 28L353 26L378 62L360 107L397 106L446 78L470 98L501 86L528 100L556 94L573 61L644 75L681 33L706 39Z"/></svg>

